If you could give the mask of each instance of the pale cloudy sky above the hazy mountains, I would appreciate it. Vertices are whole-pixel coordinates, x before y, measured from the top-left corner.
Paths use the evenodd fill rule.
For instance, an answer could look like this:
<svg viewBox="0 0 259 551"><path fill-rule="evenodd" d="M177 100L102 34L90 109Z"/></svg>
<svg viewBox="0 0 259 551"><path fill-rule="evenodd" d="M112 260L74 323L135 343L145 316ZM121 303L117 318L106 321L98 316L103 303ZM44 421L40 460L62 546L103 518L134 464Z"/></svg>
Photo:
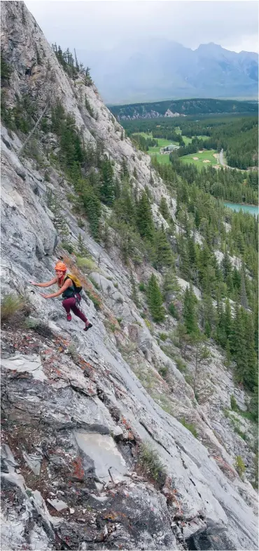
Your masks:
<svg viewBox="0 0 259 551"><path fill-rule="evenodd" d="M100 51L150 36L183 46L215 42L233 51L258 51L258 2L25 0L46 39L62 48Z"/></svg>

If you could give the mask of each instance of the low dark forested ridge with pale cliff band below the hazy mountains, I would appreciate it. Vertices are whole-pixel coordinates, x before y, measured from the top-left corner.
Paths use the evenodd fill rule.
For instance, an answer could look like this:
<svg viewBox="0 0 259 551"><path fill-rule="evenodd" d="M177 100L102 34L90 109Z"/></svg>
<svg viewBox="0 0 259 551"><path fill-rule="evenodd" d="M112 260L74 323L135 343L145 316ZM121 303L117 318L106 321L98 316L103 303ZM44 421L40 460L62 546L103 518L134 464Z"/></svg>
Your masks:
<svg viewBox="0 0 259 551"><path fill-rule="evenodd" d="M127 119L154 119L165 117L167 109L172 113L182 115L204 115L219 113L257 113L256 102L236 100L190 99L167 100L154 103L133 103L129 105L112 105L111 112L118 120Z"/></svg>

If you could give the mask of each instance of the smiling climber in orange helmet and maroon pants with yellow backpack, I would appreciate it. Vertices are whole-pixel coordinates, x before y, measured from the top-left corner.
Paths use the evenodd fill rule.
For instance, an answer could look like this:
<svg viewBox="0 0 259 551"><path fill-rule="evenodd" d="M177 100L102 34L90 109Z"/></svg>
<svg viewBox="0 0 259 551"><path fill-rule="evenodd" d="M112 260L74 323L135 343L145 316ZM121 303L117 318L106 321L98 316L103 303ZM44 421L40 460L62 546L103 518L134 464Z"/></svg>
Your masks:
<svg viewBox="0 0 259 551"><path fill-rule="evenodd" d="M92 324L77 307L77 304L79 304L81 300L80 290L82 287L76 286L75 281L78 282L78 284L80 284L80 281L78 281L78 279L71 274L66 275L66 270L67 268L64 262L57 262L55 265L56 276L51 279L51 281L46 281L45 283L35 283L35 281L29 281L29 283L36 287L50 287L51 285L57 283L59 286L59 291L57 291L57 293L51 293L51 295L44 295L44 293L41 293L41 296L43 298L55 298L56 296L62 295L62 298L64 299L62 301L62 306L66 310L67 321L71 321L72 319L70 313L70 310L72 310L75 316L85 322L84 331L88 331L88 329L92 327Z"/></svg>

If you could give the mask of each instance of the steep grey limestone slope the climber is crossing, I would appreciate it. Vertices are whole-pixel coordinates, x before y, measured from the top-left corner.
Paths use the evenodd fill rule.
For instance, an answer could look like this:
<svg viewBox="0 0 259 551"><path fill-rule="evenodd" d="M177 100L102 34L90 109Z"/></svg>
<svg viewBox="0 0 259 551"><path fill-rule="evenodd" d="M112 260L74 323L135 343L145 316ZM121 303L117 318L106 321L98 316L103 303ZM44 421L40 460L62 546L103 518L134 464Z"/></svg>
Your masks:
<svg viewBox="0 0 259 551"><path fill-rule="evenodd" d="M3 2L1 27L3 56L13 69L8 107L29 94L39 115L59 98L85 141L102 140L117 173L127 159L139 189L151 188L148 156L122 139L93 85L67 77L25 4ZM98 117L85 108L85 95ZM2 326L2 548L256 549L256 494L234 466L241 454L249 469L253 454L223 414L231 394L246 409L244 393L211 347L210 389L197 403L160 347L161 328L151 332L132 301L116 239L108 254L86 221L80 227L66 199L69 182L46 154L57 147L55 135L46 139L39 131L37 140L40 166L20 154L22 133L1 128L1 288L3 296L20 293L30 309L29 324L21 313ZM158 204L162 196L170 204L169 196L152 175L153 215L166 225ZM76 256L62 250L48 190L62 194L71 243L82 235L92 257L87 275L98 289L78 270ZM174 215L174 203L171 209ZM68 326L58 299L44 300L29 285L51 279L60 255L83 282L83 309L94 323L87 334L78 319ZM151 272L143 265L134 277ZM197 437L183 418L195 423ZM141 442L158 453L158 470L148 470Z"/></svg>

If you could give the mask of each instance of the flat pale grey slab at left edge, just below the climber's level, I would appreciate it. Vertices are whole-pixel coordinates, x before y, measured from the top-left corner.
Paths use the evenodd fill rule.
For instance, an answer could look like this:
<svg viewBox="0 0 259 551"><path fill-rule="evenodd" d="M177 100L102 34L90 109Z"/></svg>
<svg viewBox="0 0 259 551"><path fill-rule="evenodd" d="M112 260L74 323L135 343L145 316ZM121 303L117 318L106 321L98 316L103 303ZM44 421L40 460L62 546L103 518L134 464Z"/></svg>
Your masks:
<svg viewBox="0 0 259 551"><path fill-rule="evenodd" d="M36 354L28 354L23 356L22 354L16 354L14 357L3 358L1 366L4 369L10 369L12 371L18 371L19 373L31 373L34 379L47 380L48 377L43 373L43 366L41 364L41 358Z"/></svg>

